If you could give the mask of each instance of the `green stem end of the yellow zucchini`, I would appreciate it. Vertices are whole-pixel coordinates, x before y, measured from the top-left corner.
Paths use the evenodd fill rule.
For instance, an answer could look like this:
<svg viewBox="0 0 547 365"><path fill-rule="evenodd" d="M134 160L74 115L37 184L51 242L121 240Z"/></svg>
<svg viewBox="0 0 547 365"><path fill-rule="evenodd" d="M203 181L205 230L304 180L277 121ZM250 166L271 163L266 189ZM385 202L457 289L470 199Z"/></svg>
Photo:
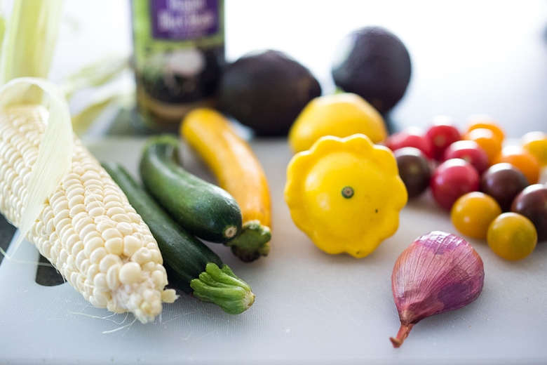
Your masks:
<svg viewBox="0 0 547 365"><path fill-rule="evenodd" d="M258 220L243 223L238 237L228 241L232 253L245 263L250 263L270 252L271 230Z"/></svg>

